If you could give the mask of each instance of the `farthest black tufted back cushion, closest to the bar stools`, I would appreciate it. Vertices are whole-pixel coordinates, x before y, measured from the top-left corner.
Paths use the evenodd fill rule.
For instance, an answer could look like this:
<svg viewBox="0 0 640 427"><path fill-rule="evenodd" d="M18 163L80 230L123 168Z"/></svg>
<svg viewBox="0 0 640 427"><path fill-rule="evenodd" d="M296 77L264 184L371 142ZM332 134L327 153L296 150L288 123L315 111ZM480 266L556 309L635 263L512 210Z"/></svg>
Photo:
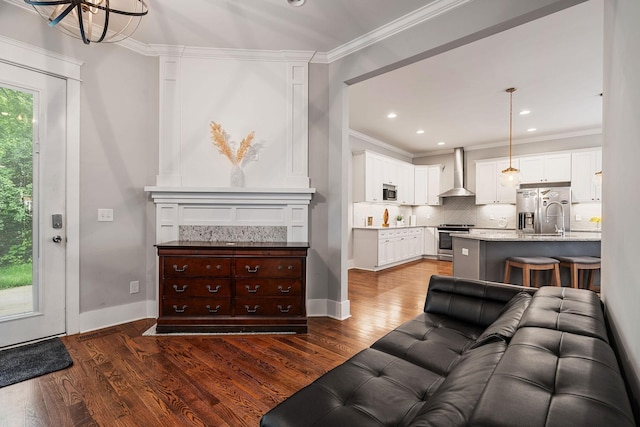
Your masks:
<svg viewBox="0 0 640 427"><path fill-rule="evenodd" d="M538 290L520 327L556 329L609 342L600 299L593 292L545 286Z"/></svg>

